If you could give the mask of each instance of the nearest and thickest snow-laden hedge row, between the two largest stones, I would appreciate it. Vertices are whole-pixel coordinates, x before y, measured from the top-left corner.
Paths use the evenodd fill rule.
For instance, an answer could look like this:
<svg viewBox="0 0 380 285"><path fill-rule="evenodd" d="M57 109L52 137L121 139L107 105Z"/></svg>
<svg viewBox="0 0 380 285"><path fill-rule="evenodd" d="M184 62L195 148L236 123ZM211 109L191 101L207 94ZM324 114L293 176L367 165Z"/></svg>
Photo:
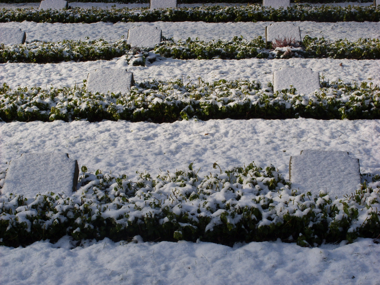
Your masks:
<svg viewBox="0 0 380 285"><path fill-rule="evenodd" d="M139 234L146 241L232 245L280 238L308 246L379 234L378 182L336 199L292 189L273 165L263 170L252 162L224 172L217 163L213 167L218 172L203 179L190 164L154 178L139 173L136 182L97 170L83 173L76 193L52 189L33 199L14 189L0 196L0 245L56 241L65 234L125 241Z"/></svg>

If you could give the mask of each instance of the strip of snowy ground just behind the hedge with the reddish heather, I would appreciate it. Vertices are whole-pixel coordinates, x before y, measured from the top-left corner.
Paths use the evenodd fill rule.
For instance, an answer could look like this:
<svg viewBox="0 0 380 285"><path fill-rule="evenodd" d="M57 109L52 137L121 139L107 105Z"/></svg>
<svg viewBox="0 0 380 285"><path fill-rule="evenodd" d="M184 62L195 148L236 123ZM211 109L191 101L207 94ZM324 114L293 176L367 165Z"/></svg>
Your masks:
<svg viewBox="0 0 380 285"><path fill-rule="evenodd" d="M138 22L116 24L97 22L92 24L62 24L62 23L35 23L35 22L8 22L0 23L0 27L21 28L26 32L26 40L40 41L62 41L62 40L84 40L86 36L90 40L104 38L106 41L114 41L122 36L127 37L128 29L136 25L154 26L162 30L162 35L174 40L185 40L187 38L199 38L200 40L231 40L234 36L244 36L247 40L252 40L257 36L265 39L265 27L273 22L227 22L227 23L206 23L206 22ZM347 38L356 41L359 38L379 38L379 22L312 22L296 21L292 22L299 26L302 39L304 36L329 40Z"/></svg>

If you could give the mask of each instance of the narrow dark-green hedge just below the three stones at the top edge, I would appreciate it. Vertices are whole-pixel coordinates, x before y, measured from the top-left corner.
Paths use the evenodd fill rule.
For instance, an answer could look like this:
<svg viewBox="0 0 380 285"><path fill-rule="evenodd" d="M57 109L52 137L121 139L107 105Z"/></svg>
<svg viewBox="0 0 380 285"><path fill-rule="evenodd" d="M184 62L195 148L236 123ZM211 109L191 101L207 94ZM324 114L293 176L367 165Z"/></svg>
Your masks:
<svg viewBox="0 0 380 285"><path fill-rule="evenodd" d="M255 21L372 21L380 20L380 10L375 6L313 7L294 4L287 9L265 8L258 4L248 6L207 6L195 8L111 8L111 9L63 9L38 10L6 9L0 11L0 22L49 22L49 23L94 23L94 22L255 22Z"/></svg>

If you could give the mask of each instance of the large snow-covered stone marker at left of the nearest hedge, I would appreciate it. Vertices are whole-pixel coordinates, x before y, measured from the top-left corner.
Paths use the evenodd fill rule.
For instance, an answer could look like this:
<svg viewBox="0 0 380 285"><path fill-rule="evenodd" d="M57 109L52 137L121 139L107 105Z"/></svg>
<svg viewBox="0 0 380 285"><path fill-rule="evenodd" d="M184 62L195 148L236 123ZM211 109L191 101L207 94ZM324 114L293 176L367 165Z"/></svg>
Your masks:
<svg viewBox="0 0 380 285"><path fill-rule="evenodd" d="M78 176L78 162L68 154L30 152L10 161L1 192L24 198L33 198L38 193L68 194L76 191Z"/></svg>

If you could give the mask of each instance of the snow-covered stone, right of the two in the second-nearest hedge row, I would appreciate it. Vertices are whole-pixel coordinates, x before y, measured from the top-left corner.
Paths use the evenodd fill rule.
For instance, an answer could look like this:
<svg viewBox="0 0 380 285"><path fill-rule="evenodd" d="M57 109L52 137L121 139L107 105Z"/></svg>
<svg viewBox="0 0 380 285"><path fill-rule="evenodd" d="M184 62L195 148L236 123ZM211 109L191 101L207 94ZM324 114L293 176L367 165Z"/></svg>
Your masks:
<svg viewBox="0 0 380 285"><path fill-rule="evenodd" d="M290 87L292 85L293 87ZM319 72L308 67L283 67L273 72L273 91L295 88L296 94L310 94L320 89Z"/></svg>

